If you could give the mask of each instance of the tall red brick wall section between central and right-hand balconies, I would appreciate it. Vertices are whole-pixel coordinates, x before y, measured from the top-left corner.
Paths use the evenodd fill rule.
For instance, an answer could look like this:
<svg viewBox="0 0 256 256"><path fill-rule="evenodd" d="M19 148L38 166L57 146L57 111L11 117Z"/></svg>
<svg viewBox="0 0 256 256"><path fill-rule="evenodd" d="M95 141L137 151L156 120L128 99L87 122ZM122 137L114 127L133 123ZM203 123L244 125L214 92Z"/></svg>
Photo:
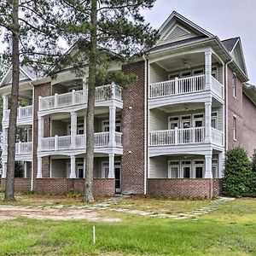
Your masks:
<svg viewBox="0 0 256 256"><path fill-rule="evenodd" d="M144 61L125 65L124 73L137 75L137 82L123 91L122 132L122 193L144 192ZM131 151L129 153L129 151Z"/></svg>

